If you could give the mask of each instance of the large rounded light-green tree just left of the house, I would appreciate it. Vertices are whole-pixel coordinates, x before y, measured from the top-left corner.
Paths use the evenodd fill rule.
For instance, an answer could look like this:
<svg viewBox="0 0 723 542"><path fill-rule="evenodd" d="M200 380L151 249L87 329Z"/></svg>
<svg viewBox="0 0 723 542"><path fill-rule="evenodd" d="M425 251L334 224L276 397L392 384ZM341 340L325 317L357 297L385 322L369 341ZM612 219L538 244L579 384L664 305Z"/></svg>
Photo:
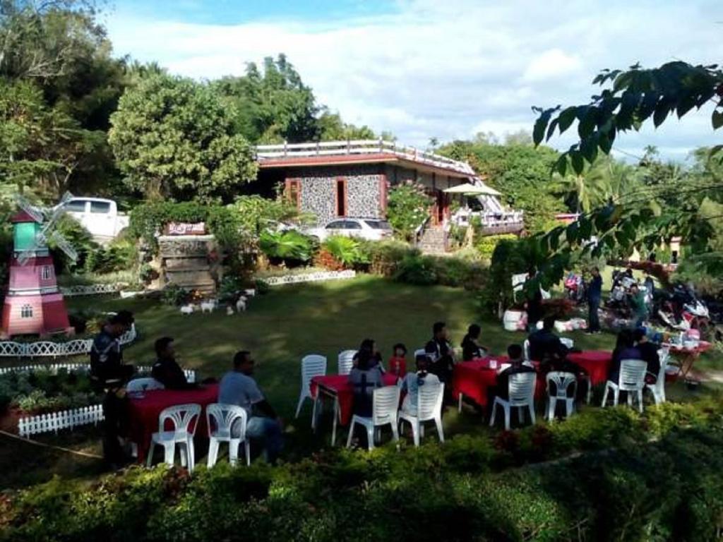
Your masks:
<svg viewBox="0 0 723 542"><path fill-rule="evenodd" d="M150 199L229 199L257 173L235 114L207 84L142 79L121 97L108 132L124 182Z"/></svg>

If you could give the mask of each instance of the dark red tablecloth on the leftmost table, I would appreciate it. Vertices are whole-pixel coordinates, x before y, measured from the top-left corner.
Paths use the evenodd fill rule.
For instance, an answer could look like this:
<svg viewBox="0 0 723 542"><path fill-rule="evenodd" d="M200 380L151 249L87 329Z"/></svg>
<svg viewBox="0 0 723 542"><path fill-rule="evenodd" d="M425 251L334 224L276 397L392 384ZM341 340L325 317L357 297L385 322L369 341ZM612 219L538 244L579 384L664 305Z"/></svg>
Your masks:
<svg viewBox="0 0 723 542"><path fill-rule="evenodd" d="M145 460L150 447L151 434L158 431L158 415L161 410L174 405L197 403L206 405L218 401L218 384L206 384L198 390L153 390L145 392L141 399L130 399L129 403L129 436L138 444L138 461ZM207 436L206 413L201 410L197 436Z"/></svg>

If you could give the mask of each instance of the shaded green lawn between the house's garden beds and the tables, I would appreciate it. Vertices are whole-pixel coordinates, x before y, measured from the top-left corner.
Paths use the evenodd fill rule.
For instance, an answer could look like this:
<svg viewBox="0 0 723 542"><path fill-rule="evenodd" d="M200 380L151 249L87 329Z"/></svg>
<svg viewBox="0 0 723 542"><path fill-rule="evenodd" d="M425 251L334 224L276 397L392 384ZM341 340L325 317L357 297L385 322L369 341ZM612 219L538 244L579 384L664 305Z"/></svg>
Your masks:
<svg viewBox="0 0 723 542"><path fill-rule="evenodd" d="M366 337L377 340L385 358L397 342L405 343L409 350L422 348L429 340L432 323L437 320L447 322L455 345L461 342L466 327L478 322L482 325L482 342L494 354L503 353L510 343L521 343L526 337L522 332L506 332L499 321L480 321L473 293L444 286L393 283L368 275L354 280L275 287L268 294L249 300L246 313L233 316L226 316L221 310L183 316L179 309L158 301L108 296L70 298L68 305L71 309L133 311L140 337L124 350L124 356L127 362L137 365L153 361L153 341L163 335L176 338L181 365L196 369L201 379L220 378L231 366L236 350L252 350L258 362L256 377L260 387L289 422L287 460L298 460L328 446L330 439L330 416L325 418L319 434L310 431L309 401L299 420L292 419L299 398L301 357L309 353L327 356L328 372L335 373L340 350L357 348ZM607 333L565 335L583 350L612 349L615 342L614 335ZM720 356L715 357L718 360ZM411 364L411 354L408 358ZM718 384L706 382L698 391L690 392L683 383L675 383L667 386L667 394L669 400L690 400L716 389L720 389ZM448 408L444 424L446 436L488 431L482 413L470 407L461 414L456 408ZM89 427L36 439L99 453L99 436L98 429ZM346 431L342 429L338 434L340 441L344 436ZM337 445L341 445L340 441ZM0 489L46 481L54 474L61 478L93 479L100 469L97 460L64 454L2 437L0 464L17 463L17 458L22 458L22 468L1 470ZM202 462L204 457L205 450L197 449L197 462Z"/></svg>

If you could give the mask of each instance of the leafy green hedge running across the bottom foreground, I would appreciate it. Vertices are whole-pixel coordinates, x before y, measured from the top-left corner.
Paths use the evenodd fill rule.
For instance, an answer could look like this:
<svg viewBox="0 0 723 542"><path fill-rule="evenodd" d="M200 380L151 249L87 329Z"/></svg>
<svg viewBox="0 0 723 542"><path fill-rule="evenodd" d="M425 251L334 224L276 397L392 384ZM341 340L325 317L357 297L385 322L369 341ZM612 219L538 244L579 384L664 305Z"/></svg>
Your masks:
<svg viewBox="0 0 723 542"><path fill-rule="evenodd" d="M510 433L458 436L401 451L333 449L278 468L222 463L192 477L132 468L92 486L56 479L0 501L0 540L714 540L721 413L719 400L646 418L606 409L518 431L515 446ZM593 451L506 469L520 459L510 449L571 447Z"/></svg>

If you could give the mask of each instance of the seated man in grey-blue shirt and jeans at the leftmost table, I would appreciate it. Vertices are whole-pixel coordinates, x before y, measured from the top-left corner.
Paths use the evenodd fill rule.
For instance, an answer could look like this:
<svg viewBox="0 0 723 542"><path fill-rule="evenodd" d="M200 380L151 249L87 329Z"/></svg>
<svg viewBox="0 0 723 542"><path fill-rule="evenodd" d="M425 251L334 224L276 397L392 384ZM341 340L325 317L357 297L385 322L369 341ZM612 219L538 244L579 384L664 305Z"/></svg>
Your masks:
<svg viewBox="0 0 723 542"><path fill-rule="evenodd" d="M246 434L250 439L264 442L264 455L273 465L283 448L283 422L252 378L254 364L249 351L236 352L234 369L224 374L219 384L218 402L239 405L246 410Z"/></svg>

